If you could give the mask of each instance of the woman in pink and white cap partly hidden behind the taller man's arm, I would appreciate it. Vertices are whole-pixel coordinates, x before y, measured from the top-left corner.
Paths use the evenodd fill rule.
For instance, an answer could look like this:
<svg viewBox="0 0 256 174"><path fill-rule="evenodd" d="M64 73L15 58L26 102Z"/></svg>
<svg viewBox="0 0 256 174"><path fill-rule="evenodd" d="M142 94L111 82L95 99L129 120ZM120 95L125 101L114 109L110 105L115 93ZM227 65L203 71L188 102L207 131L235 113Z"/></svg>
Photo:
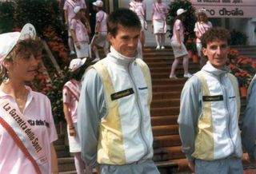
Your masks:
<svg viewBox="0 0 256 174"><path fill-rule="evenodd" d="M81 146L78 137L77 117L78 101L81 90L81 78L86 68L84 63L86 58L75 58L70 61L70 81L63 86L63 113L67 123L67 132L70 145L70 152L74 154L74 164L78 174L91 173L91 168L87 167L81 159Z"/></svg>

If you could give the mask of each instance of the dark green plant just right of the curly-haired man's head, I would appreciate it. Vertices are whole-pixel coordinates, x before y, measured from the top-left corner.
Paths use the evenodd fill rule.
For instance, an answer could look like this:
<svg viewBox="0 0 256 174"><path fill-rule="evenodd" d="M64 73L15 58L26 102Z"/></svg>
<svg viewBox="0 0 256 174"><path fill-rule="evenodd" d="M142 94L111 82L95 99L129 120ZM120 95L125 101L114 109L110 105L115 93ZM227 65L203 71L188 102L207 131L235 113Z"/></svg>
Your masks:
<svg viewBox="0 0 256 174"><path fill-rule="evenodd" d="M230 35L230 45L246 45L248 38L246 34L237 30L232 30Z"/></svg>

